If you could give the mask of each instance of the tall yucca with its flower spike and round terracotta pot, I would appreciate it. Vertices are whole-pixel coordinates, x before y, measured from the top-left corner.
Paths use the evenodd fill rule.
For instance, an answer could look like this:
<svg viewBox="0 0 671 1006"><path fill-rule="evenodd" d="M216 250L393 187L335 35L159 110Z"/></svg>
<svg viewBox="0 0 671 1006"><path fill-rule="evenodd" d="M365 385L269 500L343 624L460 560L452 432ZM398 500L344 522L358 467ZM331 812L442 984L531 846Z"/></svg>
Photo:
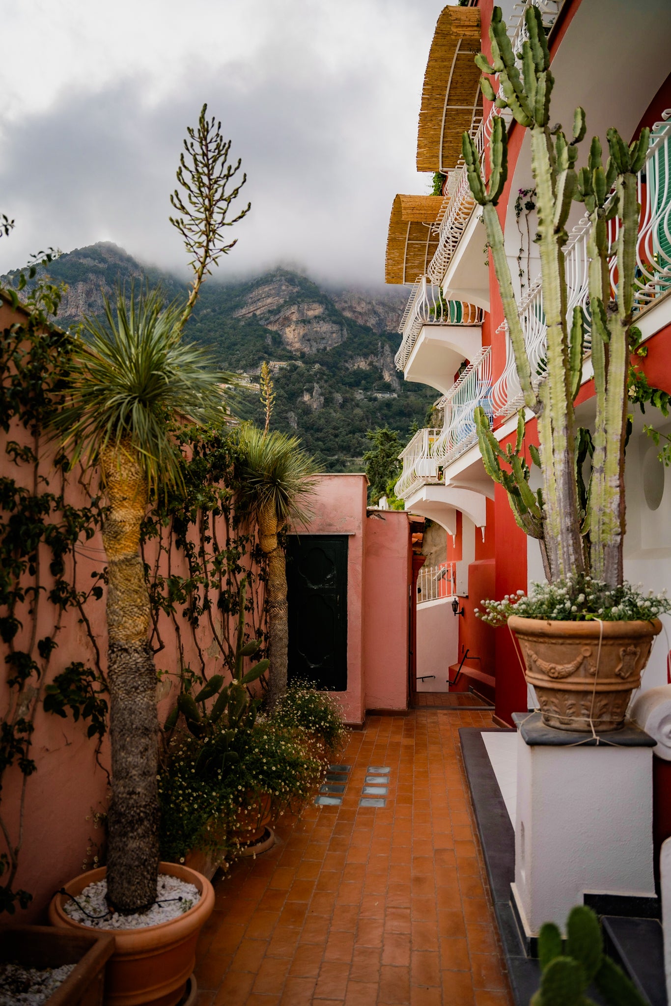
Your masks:
<svg viewBox="0 0 671 1006"><path fill-rule="evenodd" d="M140 525L152 495L179 489L179 451L173 431L185 418L221 418L222 384L208 354L183 341L183 330L204 277L234 241L225 243L226 219L239 184L227 163L230 143L206 106L197 130L188 130L177 179L184 197L171 197L173 224L192 257L194 278L186 304L164 306L158 293L117 294L105 300L105 318L87 319L75 341L66 404L57 429L71 463L100 466L107 498L103 543L108 559L108 677L112 740L112 802L108 865L66 884L50 906L57 926L114 925L117 950L110 965L111 1002L171 1006L193 968L199 929L212 910L209 882L185 866L159 863L156 668L149 645L150 606L142 562ZM228 187L228 190L227 190ZM183 881L195 891L174 903L171 920L156 920L159 879ZM82 891L101 885L104 910L73 908ZM96 887L97 891L103 889ZM93 895L92 895L93 897ZM188 902L193 903L187 907ZM186 909L186 910L185 910ZM168 909L170 910L170 909ZM75 915L80 916L77 920ZM94 917L91 917L94 916ZM151 925L147 925L153 920ZM140 927L140 928L138 928ZM144 928L142 928L144 927Z"/></svg>

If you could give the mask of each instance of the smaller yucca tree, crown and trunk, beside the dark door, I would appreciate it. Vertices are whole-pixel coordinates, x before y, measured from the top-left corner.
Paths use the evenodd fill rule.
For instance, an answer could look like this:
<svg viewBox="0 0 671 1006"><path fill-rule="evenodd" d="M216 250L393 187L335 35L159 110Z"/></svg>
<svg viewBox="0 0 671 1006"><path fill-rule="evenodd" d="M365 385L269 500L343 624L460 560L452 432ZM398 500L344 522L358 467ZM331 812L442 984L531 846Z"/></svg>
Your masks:
<svg viewBox="0 0 671 1006"><path fill-rule="evenodd" d="M289 622L287 566L278 535L290 522L309 518L307 499L315 490L317 467L298 437L245 425L238 434L240 503L259 525L268 556L269 706L287 690Z"/></svg>

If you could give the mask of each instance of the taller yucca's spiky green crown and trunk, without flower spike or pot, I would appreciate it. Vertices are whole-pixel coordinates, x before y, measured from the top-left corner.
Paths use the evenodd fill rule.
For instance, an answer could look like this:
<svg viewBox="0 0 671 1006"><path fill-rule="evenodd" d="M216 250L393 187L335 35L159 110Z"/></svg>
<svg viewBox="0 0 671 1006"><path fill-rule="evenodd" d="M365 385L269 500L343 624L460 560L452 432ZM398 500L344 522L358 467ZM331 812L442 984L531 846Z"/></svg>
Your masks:
<svg viewBox="0 0 671 1006"><path fill-rule="evenodd" d="M127 301L120 291L114 308L106 299L105 321L85 321L57 421L72 463L98 460L108 504L108 895L122 911L154 901L159 861L156 668L140 525L151 497L179 486L175 425L224 408L223 375L182 339L183 309L163 307L156 292L133 291Z"/></svg>

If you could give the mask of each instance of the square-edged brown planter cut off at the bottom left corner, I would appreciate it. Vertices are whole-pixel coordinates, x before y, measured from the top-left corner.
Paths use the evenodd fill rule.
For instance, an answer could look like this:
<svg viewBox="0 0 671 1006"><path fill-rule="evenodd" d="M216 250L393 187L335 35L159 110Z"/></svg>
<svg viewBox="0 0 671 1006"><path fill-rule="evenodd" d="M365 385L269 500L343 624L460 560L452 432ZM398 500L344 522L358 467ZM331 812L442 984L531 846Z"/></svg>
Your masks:
<svg viewBox="0 0 671 1006"><path fill-rule="evenodd" d="M75 966L44 1006L101 1006L105 966L115 948L113 934L101 930L71 933L48 926L7 926L0 933L0 963L12 961L39 969Z"/></svg>

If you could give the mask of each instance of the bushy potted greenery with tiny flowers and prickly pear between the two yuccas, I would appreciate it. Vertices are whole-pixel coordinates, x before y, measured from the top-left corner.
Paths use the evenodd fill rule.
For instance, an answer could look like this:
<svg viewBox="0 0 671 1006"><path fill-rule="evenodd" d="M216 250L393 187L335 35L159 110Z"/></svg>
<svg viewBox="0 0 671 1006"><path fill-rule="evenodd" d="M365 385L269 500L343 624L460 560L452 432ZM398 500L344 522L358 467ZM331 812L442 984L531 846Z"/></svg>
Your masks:
<svg viewBox="0 0 671 1006"><path fill-rule="evenodd" d="M244 581L239 610L244 611ZM244 643L243 628L241 615L228 685L221 675L195 694L185 684L177 705L184 728L176 710L166 722L171 737L159 778L163 854L187 865L200 862L212 874L224 857L265 851L273 841L267 834L270 821L305 803L328 764L314 750L315 733L289 712L287 697L272 715L259 712L261 700L250 698L247 687L264 674L268 660L243 673L243 657L259 648L257 640ZM322 729L337 732L333 724Z"/></svg>

